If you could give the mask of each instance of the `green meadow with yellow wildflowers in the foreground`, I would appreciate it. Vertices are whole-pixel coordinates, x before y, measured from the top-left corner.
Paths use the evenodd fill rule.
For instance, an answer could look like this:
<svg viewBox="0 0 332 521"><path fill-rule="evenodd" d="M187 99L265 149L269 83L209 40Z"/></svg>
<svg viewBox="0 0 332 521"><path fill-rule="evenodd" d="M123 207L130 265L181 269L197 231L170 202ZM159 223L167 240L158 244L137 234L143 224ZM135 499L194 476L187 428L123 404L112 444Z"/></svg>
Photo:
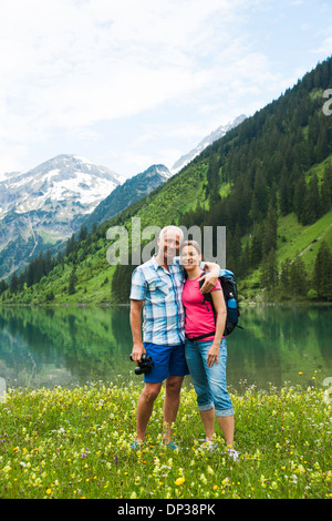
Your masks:
<svg viewBox="0 0 332 521"><path fill-rule="evenodd" d="M195 392L183 390L180 450L162 446L163 392L148 437L131 449L141 386L12 390L0 403L0 498L331 498L331 406L325 388L231 394L238 461L199 452Z"/></svg>

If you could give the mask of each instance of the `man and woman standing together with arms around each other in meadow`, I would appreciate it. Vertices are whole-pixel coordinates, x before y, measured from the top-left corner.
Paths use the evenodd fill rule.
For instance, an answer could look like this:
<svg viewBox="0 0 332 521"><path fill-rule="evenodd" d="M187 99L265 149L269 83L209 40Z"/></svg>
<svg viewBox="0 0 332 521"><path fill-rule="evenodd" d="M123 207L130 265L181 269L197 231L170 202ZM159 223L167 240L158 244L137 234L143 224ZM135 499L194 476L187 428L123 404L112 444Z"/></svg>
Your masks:
<svg viewBox="0 0 332 521"><path fill-rule="evenodd" d="M178 254L180 257L176 257ZM201 266L209 272L205 273ZM201 263L199 245L195 241L183 242L183 231L177 226L162 229L158 253L133 272L132 359L137 364L147 354L154 362L152 371L144 375L145 386L138 399L135 447L144 442L154 401L165 381L164 443L177 448L172 441L172 423L179 408L184 377L190 374L206 433L204 446L214 447L216 415L229 453L237 459L234 409L226 386L227 346L222 334L227 311L219 272L217 264ZM217 311L216 324L201 294L209 292Z"/></svg>

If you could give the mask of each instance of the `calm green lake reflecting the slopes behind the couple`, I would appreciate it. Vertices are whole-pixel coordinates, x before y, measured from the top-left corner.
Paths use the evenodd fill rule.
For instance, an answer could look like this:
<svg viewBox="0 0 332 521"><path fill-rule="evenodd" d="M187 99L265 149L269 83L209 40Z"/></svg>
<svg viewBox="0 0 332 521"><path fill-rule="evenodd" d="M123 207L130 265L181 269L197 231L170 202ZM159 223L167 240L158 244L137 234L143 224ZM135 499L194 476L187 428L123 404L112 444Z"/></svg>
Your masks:
<svg viewBox="0 0 332 521"><path fill-rule="evenodd" d="M242 307L245 329L228 337L228 385L242 391L332 377L331 315L324 305ZM7 387L142 384L131 351L126 306L0 307L0 378Z"/></svg>

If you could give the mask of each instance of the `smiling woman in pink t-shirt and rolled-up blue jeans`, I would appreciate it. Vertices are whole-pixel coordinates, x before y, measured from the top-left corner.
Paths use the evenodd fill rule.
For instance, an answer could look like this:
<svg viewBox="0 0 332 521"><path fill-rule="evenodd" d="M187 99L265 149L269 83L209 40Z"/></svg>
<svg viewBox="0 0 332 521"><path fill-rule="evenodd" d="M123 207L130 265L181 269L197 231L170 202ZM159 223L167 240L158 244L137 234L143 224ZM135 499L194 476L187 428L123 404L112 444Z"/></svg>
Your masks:
<svg viewBox="0 0 332 521"><path fill-rule="evenodd" d="M199 244L196 241L186 241L180 249L180 259L187 276L183 290L183 304L186 310L185 354L206 433L205 446L208 449L214 448L211 440L216 415L229 447L229 454L236 460L238 453L234 450L234 409L226 386L227 346L222 334L227 311L224 293L218 280L211 290L217 313L215 324L211 306L204 302L199 288L199 278L203 275L199 267L201 262ZM200 338L201 336L204 338Z"/></svg>

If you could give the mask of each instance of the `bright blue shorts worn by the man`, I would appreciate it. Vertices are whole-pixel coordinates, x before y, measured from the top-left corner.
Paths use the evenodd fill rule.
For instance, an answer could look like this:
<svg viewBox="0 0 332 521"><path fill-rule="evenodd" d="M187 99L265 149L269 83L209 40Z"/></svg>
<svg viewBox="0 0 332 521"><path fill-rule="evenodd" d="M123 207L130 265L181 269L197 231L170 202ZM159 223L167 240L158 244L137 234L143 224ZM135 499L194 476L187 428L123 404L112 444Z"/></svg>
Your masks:
<svg viewBox="0 0 332 521"><path fill-rule="evenodd" d="M185 357L185 344L159 346L145 341L144 347L147 356L151 356L154 362L151 372L144 375L144 381L157 384L166 380L169 376L189 375Z"/></svg>

